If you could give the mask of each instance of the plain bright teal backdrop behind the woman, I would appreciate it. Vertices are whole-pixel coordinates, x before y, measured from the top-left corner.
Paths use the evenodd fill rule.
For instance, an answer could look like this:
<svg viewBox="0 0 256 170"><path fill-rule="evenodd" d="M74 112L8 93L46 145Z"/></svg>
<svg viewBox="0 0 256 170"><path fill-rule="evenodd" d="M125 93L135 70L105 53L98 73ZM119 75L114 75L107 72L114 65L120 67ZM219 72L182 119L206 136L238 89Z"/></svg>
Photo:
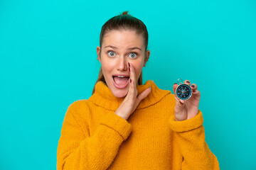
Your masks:
<svg viewBox="0 0 256 170"><path fill-rule="evenodd" d="M0 1L0 169L56 169L63 118L90 98L102 25L129 11L149 31L143 82L201 91L220 169L256 169L256 1Z"/></svg>

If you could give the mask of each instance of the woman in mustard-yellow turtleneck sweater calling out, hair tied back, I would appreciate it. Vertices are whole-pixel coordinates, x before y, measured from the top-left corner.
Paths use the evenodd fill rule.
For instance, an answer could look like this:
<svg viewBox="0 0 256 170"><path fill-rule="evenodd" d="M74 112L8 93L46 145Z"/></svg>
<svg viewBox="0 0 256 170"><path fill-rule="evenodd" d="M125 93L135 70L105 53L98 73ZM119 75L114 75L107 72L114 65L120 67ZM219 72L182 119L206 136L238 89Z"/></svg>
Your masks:
<svg viewBox="0 0 256 170"><path fill-rule="evenodd" d="M182 101L154 81L142 84L148 33L127 12L102 26L100 74L88 100L68 107L57 169L219 169L205 141L200 92ZM175 91L178 84L174 84Z"/></svg>

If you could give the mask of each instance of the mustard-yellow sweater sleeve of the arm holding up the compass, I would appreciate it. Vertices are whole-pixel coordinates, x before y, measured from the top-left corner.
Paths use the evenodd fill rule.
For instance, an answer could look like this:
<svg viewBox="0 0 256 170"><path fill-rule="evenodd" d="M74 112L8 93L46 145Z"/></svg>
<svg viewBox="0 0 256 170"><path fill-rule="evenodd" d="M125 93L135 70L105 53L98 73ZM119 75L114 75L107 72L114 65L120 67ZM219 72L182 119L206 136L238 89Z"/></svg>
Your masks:
<svg viewBox="0 0 256 170"><path fill-rule="evenodd" d="M183 156L181 169L220 169L218 159L206 144L203 115L200 110L198 115L189 120L176 121L173 115L169 123Z"/></svg>

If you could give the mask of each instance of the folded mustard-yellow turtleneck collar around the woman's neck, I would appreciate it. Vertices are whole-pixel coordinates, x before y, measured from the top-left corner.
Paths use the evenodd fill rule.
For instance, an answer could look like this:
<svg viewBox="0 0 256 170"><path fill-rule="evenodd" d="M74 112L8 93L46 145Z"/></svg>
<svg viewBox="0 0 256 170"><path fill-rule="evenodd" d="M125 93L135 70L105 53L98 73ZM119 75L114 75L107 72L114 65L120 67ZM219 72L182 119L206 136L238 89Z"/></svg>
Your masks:
<svg viewBox="0 0 256 170"><path fill-rule="evenodd" d="M159 89L154 81L148 80L144 85L137 85L138 96L144 90L151 87L150 94L146 96L137 106L137 109L146 108L148 106L154 105L164 98L167 94L170 94L171 91ZM103 82L98 81L95 85L95 93L89 98L89 101L92 101L97 106L101 106L110 111L117 111L117 108L120 106L124 98L117 98L112 94L110 88Z"/></svg>

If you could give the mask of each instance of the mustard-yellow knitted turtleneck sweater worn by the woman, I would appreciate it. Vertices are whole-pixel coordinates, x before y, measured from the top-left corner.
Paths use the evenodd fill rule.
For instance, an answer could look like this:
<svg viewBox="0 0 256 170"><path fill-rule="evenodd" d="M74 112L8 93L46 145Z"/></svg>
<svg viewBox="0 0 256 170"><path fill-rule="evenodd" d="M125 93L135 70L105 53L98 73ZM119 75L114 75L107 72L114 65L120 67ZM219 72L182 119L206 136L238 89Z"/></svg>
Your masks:
<svg viewBox="0 0 256 170"><path fill-rule="evenodd" d="M63 120L57 169L219 169L205 141L203 115L174 120L174 94L148 80L137 86L149 96L124 120L116 98L102 81L88 100L70 104Z"/></svg>

